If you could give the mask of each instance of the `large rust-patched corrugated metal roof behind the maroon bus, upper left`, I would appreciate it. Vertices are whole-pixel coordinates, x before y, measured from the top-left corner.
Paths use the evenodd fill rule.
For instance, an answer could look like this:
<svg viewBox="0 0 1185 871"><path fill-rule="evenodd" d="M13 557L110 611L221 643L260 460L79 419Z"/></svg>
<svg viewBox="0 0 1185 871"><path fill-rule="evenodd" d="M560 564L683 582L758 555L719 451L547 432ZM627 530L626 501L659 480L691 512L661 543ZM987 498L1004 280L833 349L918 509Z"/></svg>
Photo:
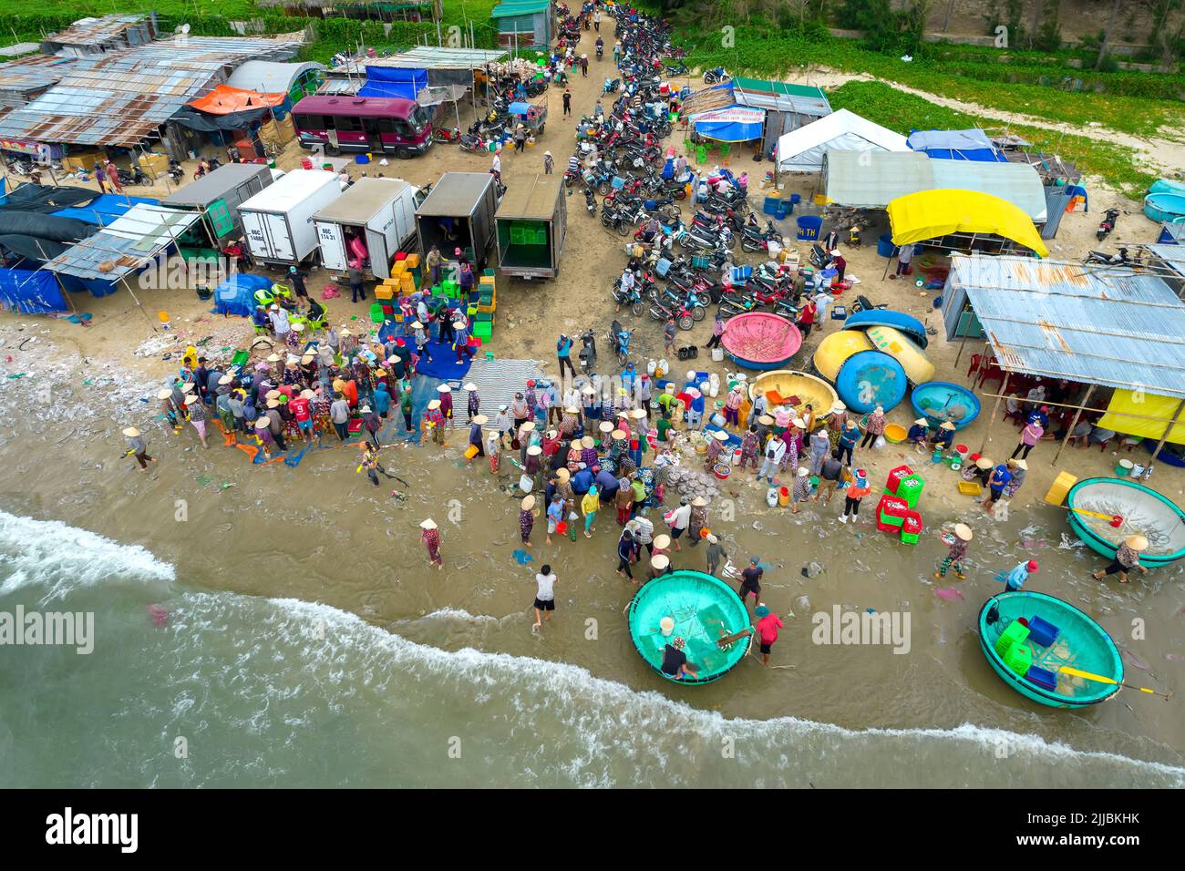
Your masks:
<svg viewBox="0 0 1185 871"><path fill-rule="evenodd" d="M0 120L0 137L134 146L248 58L290 57L302 33L188 37L79 60L57 85Z"/></svg>

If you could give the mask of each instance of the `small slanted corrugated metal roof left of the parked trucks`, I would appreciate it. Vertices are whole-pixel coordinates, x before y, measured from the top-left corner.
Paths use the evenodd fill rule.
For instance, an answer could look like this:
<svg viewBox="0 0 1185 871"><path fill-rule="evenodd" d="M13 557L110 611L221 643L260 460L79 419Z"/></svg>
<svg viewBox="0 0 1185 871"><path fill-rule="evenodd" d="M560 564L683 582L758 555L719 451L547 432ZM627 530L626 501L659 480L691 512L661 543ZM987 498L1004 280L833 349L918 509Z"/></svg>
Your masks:
<svg viewBox="0 0 1185 871"><path fill-rule="evenodd" d="M198 212L134 205L94 236L55 257L46 269L114 282L145 267L200 218ZM108 268L100 269L101 265Z"/></svg>

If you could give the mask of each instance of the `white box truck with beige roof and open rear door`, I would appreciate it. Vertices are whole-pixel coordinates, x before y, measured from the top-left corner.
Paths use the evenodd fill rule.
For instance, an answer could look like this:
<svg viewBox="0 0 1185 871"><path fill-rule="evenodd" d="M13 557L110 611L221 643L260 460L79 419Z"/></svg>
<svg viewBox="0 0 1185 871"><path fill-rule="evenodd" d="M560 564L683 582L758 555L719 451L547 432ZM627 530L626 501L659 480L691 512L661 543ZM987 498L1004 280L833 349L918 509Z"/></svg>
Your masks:
<svg viewBox="0 0 1185 871"><path fill-rule="evenodd" d="M416 238L419 188L402 179L358 179L313 216L321 265L345 273L351 261L374 278L391 277L391 261Z"/></svg>

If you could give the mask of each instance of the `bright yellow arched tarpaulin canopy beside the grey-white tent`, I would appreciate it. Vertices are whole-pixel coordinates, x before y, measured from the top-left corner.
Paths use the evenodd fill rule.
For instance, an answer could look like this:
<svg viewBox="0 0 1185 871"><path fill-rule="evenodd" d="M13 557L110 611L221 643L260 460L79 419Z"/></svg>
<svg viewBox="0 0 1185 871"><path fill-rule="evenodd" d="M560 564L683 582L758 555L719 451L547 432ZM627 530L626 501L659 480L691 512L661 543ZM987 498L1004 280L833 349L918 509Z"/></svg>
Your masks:
<svg viewBox="0 0 1185 871"><path fill-rule="evenodd" d="M918 191L889 204L895 245L955 232L992 233L1030 248L1042 257L1049 249L1032 219L1019 206L979 191Z"/></svg>

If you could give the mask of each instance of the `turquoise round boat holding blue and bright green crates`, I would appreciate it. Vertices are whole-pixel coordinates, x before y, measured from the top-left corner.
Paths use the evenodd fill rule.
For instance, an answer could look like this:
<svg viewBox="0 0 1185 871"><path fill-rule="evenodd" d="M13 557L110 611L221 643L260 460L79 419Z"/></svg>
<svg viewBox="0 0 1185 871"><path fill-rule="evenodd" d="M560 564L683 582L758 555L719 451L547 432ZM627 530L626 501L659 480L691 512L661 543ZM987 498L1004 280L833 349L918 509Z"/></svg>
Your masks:
<svg viewBox="0 0 1185 871"><path fill-rule="evenodd" d="M1123 680L1123 660L1110 635L1044 593L1016 590L987 600L979 611L979 646L1004 683L1050 707L1104 702ZM1063 666L1116 683L1059 671Z"/></svg>

